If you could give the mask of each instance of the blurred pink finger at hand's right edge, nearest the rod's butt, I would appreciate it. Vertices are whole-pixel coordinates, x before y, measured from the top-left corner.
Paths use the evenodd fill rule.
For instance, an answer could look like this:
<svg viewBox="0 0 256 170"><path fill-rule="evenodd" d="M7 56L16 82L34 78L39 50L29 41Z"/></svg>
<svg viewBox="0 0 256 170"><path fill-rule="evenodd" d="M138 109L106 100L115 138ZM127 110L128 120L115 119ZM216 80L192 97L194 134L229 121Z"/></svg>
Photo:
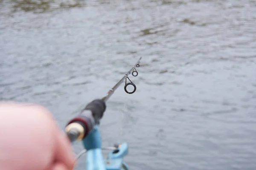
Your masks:
<svg viewBox="0 0 256 170"><path fill-rule="evenodd" d="M56 136L56 150L55 150L55 161L63 162L65 166L72 170L75 163L75 156L73 154L72 146L67 136L58 130L58 135Z"/></svg>

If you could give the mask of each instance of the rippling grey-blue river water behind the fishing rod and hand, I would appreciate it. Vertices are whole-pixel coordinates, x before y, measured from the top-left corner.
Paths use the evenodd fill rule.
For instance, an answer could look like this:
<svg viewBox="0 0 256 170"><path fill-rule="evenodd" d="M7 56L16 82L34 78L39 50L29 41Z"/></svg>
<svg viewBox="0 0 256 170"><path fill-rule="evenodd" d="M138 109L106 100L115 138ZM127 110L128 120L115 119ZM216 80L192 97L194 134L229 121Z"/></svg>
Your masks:
<svg viewBox="0 0 256 170"><path fill-rule="evenodd" d="M256 169L256 1L64 3L0 1L1 100L64 129L143 57L137 91L107 103L104 146L128 142L131 170Z"/></svg>

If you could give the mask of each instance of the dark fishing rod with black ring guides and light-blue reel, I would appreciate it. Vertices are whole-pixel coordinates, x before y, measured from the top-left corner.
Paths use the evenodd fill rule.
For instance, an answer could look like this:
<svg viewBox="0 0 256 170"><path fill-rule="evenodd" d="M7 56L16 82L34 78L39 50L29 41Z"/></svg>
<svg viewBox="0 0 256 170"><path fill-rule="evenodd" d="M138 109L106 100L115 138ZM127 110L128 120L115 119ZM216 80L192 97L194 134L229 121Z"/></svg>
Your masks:
<svg viewBox="0 0 256 170"><path fill-rule="evenodd" d="M77 159L87 153L86 170L129 170L128 165L123 161L123 157L128 154L128 144L115 144L114 147L102 147L99 133L99 123L106 110L106 102L113 95L117 88L125 81L124 90L128 94L136 91L136 85L129 79L129 75L138 75L136 67L140 67L140 59L125 74L116 85L111 88L102 99L95 99L88 103L78 116L71 119L65 131L70 142L82 141L85 151L79 153ZM130 82L127 82L127 79ZM134 90L128 92L127 87L131 85ZM102 150L112 150L107 159L103 159Z"/></svg>

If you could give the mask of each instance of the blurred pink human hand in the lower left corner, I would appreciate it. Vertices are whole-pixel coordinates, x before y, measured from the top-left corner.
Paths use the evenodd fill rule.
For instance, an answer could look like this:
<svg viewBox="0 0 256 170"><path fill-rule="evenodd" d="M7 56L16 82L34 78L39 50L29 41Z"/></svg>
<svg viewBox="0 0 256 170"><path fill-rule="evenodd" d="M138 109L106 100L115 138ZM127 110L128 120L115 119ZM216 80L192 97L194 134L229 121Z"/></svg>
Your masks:
<svg viewBox="0 0 256 170"><path fill-rule="evenodd" d="M0 170L72 170L75 157L43 106L0 103Z"/></svg>

